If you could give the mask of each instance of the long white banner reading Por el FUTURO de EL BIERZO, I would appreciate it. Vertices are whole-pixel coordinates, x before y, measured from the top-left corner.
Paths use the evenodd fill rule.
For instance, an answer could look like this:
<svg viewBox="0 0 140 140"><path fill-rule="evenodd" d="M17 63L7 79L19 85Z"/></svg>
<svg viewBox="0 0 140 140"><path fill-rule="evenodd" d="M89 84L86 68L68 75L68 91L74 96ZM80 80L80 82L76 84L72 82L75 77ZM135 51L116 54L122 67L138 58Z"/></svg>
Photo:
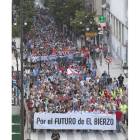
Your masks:
<svg viewBox="0 0 140 140"><path fill-rule="evenodd" d="M35 113L34 129L116 130L116 115Z"/></svg>

